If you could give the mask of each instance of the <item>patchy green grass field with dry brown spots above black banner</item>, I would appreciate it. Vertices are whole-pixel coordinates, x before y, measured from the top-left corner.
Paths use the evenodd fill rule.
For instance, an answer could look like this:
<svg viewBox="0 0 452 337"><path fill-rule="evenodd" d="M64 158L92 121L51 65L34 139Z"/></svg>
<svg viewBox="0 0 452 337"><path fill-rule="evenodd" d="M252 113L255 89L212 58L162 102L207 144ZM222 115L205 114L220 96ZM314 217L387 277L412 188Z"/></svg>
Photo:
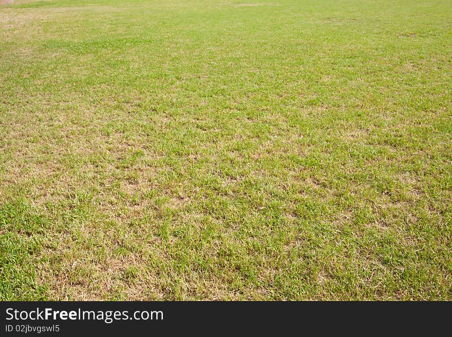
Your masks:
<svg viewBox="0 0 452 337"><path fill-rule="evenodd" d="M452 2L0 6L0 299L452 300Z"/></svg>

